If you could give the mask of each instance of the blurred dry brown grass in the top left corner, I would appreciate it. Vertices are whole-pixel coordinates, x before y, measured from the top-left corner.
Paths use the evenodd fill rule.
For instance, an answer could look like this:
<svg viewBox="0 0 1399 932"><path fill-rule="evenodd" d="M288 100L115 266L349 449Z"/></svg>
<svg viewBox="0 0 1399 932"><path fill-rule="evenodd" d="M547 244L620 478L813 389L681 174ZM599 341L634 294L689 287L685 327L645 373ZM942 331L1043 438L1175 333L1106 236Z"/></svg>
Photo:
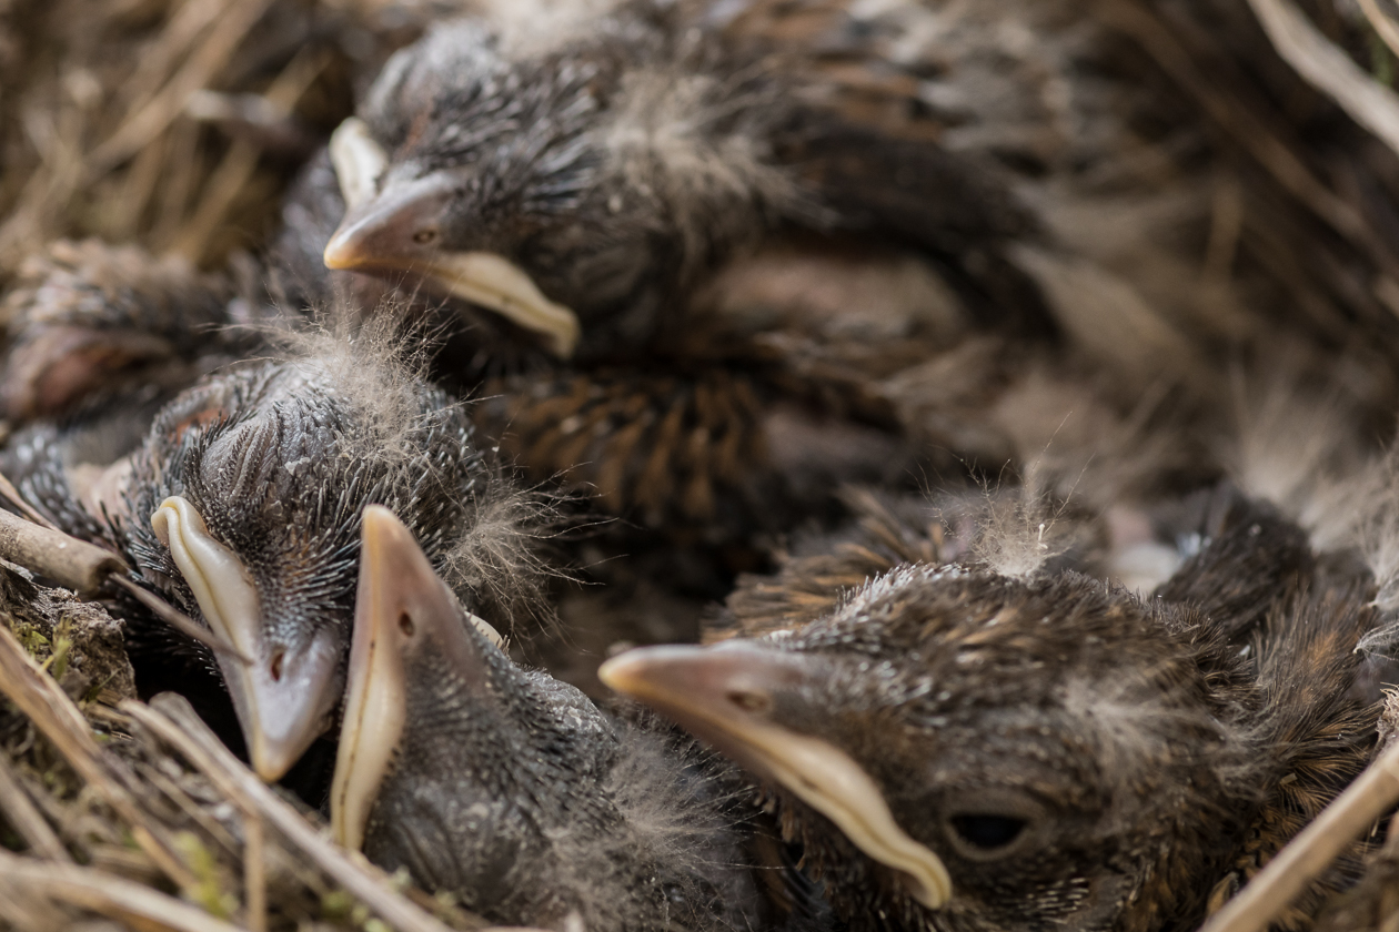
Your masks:
<svg viewBox="0 0 1399 932"><path fill-rule="evenodd" d="M439 7L379 0L0 3L0 284L57 236L220 265ZM255 95L255 96L249 96Z"/></svg>

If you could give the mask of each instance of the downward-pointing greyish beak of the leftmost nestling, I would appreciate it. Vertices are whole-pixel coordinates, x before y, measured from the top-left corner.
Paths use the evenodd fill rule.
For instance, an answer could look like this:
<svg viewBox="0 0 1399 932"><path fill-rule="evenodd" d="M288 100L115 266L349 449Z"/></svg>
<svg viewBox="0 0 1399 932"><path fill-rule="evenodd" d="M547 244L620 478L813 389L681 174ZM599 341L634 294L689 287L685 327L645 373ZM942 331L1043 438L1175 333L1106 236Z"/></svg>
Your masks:
<svg viewBox="0 0 1399 932"><path fill-rule="evenodd" d="M257 587L248 569L215 541L204 518L178 495L151 516L155 535L171 549L175 566L194 592L210 629L243 657L218 655L257 776L271 782L285 774L320 735L339 700L340 651L320 632L288 650L267 637Z"/></svg>

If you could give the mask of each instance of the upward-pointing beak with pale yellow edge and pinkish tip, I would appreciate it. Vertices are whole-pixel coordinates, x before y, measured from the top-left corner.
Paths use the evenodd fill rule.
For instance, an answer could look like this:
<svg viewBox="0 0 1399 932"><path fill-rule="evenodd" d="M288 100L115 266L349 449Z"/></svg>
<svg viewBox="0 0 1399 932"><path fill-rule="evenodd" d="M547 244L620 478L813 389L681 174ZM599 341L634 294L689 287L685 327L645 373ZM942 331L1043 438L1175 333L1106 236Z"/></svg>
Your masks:
<svg viewBox="0 0 1399 932"><path fill-rule="evenodd" d="M346 714L330 785L330 830L346 848L364 844L369 812L403 738L416 644L427 639L434 648L445 646L459 668L456 654L467 640L463 622L501 646L494 627L457 606L393 511L368 506L360 531Z"/></svg>

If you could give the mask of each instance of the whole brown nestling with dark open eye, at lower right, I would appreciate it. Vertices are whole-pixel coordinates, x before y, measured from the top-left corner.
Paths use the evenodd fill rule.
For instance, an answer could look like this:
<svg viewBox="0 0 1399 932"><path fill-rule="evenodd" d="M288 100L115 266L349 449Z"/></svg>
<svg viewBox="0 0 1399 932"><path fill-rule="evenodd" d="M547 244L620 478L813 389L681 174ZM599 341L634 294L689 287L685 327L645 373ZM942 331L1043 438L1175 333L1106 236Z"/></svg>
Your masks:
<svg viewBox="0 0 1399 932"><path fill-rule="evenodd" d="M803 626L600 675L761 781L856 932L1193 928L1374 742L1350 693L1371 591L1286 521L1234 517L1172 580L1195 604L907 565ZM1196 584L1259 552L1281 569L1252 597Z"/></svg>

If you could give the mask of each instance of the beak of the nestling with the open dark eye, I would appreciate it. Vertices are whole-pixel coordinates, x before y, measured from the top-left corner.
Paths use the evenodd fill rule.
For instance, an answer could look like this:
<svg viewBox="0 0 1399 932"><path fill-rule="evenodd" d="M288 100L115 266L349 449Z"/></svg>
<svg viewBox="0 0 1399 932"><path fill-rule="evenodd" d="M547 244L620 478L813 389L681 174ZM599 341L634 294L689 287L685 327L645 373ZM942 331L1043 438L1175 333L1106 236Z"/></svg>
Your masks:
<svg viewBox="0 0 1399 932"><path fill-rule="evenodd" d="M644 647L607 661L597 675L824 815L860 851L897 871L928 908L951 898L942 858L898 827L863 767L830 742L772 721L774 696L820 685L809 658L744 641Z"/></svg>

